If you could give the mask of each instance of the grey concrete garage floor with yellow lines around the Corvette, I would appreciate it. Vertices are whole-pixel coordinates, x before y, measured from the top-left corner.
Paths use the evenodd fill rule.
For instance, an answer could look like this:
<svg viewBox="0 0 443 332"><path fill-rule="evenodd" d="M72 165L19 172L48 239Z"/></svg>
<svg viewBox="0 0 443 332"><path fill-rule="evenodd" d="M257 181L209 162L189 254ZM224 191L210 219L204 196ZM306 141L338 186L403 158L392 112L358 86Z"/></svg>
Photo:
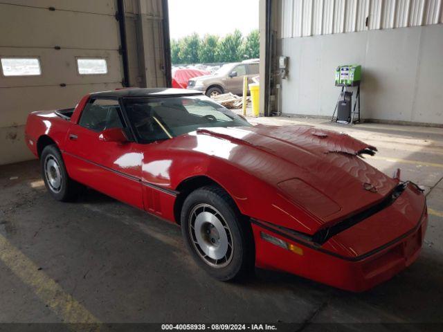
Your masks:
<svg viewBox="0 0 443 332"><path fill-rule="evenodd" d="M314 322L443 323L443 130L250 120L345 131L379 149L369 163L387 174L400 167L424 186L430 220L415 264L362 294L264 270L245 284L216 282L177 226L93 190L54 201L33 160L0 167L0 322L297 322L305 331Z"/></svg>

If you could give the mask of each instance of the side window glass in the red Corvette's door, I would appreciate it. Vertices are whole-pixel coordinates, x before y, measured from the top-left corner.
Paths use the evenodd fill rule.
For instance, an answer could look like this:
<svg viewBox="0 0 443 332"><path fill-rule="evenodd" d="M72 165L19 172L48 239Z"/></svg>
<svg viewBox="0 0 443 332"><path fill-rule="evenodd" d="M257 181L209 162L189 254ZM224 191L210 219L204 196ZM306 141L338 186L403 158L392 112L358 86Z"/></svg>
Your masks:
<svg viewBox="0 0 443 332"><path fill-rule="evenodd" d="M120 106L117 100L91 100L84 107L78 124L93 131L111 128L123 128L120 117Z"/></svg>

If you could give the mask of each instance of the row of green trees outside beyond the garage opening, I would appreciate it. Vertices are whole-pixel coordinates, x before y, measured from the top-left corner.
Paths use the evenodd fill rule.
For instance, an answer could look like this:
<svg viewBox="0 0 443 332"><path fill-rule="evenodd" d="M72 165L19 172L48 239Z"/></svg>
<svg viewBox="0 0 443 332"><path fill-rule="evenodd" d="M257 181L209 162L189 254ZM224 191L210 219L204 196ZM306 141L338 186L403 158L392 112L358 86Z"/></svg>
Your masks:
<svg viewBox="0 0 443 332"><path fill-rule="evenodd" d="M217 35L199 37L197 33L171 40L172 64L210 64L239 62L260 57L260 33L253 30L243 37L239 30L221 38Z"/></svg>

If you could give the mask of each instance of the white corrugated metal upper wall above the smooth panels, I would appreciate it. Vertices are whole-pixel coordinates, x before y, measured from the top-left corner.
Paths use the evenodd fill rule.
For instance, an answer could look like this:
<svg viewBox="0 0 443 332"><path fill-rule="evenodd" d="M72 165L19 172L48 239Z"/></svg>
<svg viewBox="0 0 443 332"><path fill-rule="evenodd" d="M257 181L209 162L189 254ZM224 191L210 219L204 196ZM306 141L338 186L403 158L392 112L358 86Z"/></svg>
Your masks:
<svg viewBox="0 0 443 332"><path fill-rule="evenodd" d="M282 0L281 37L443 23L443 0Z"/></svg>

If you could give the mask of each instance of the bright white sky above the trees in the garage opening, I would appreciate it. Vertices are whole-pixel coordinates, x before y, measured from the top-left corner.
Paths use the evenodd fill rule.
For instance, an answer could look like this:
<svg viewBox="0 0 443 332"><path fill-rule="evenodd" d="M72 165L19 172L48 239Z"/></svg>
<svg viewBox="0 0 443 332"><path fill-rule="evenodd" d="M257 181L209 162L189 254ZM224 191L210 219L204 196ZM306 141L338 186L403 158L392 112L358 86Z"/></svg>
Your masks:
<svg viewBox="0 0 443 332"><path fill-rule="evenodd" d="M168 0L170 37L192 33L224 37L236 28L243 35L258 29L259 0Z"/></svg>

